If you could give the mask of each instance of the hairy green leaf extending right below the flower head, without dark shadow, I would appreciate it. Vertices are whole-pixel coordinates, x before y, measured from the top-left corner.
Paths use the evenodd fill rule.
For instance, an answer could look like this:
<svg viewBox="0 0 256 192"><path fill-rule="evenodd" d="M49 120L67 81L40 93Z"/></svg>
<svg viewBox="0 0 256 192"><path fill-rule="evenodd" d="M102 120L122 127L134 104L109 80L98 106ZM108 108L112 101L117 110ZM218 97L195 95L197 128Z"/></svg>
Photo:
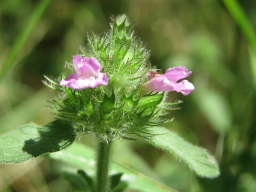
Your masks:
<svg viewBox="0 0 256 192"><path fill-rule="evenodd" d="M218 163L205 149L192 145L164 127L154 127L152 133L162 135L156 135L151 140L147 140L151 145L169 151L199 176L215 178L220 174Z"/></svg>

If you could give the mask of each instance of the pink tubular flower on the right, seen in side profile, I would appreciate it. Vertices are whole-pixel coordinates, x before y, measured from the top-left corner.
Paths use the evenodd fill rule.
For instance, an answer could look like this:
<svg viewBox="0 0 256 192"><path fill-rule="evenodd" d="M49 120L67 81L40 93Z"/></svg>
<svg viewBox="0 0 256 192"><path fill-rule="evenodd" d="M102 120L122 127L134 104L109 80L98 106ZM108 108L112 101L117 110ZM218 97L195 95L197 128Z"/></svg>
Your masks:
<svg viewBox="0 0 256 192"><path fill-rule="evenodd" d="M178 83L182 78L188 77L192 71L183 66L169 68L163 75L155 75L149 82L143 85L147 91L177 91L188 95L195 89L194 85L187 80Z"/></svg>

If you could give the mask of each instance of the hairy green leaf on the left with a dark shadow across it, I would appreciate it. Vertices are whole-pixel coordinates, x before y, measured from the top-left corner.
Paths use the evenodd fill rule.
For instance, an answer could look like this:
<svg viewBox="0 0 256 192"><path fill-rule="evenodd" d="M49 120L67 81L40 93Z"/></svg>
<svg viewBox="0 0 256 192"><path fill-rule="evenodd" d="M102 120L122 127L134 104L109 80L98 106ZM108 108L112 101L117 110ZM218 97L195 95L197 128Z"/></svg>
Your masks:
<svg viewBox="0 0 256 192"><path fill-rule="evenodd" d="M0 162L20 163L44 153L67 148L75 134L67 123L27 124L0 136Z"/></svg>

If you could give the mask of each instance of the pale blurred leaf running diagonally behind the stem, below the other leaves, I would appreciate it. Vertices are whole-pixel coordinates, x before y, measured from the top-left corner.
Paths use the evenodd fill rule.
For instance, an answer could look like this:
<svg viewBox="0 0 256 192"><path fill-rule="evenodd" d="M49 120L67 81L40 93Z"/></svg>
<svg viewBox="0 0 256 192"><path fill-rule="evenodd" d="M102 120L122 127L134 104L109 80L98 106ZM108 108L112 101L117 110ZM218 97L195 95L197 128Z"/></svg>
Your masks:
<svg viewBox="0 0 256 192"><path fill-rule="evenodd" d="M51 158L59 159L63 162L75 165L79 168L85 169L86 171L95 170L95 153L94 151L84 145L79 143L74 143L67 150L62 150L57 153L52 153L49 155ZM110 174L115 174L118 172L123 172L123 181L129 182L129 187L139 190L139 191L155 191L155 192L174 192L171 189L157 181L148 178L146 175L137 172L130 167L127 167L121 163L113 161L110 165ZM122 185L126 185L123 183ZM120 186L122 187L122 186ZM113 189L114 191L122 191ZM177 191L176 191L177 192Z"/></svg>

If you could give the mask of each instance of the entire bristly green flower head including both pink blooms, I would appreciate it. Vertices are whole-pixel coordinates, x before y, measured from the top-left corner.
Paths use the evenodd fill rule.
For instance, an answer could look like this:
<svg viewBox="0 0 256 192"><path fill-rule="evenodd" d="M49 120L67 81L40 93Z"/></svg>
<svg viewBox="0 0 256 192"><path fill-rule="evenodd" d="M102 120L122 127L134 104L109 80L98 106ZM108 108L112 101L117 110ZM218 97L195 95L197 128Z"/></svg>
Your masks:
<svg viewBox="0 0 256 192"><path fill-rule="evenodd" d="M46 77L51 89L61 92L52 101L55 118L69 121L79 133L92 133L105 141L153 137L151 127L166 122L179 102L167 101L166 91L183 95L194 90L182 80L191 74L183 66L158 75L149 64L149 51L134 37L124 17L110 23L103 36L89 34L81 49L56 81Z"/></svg>

